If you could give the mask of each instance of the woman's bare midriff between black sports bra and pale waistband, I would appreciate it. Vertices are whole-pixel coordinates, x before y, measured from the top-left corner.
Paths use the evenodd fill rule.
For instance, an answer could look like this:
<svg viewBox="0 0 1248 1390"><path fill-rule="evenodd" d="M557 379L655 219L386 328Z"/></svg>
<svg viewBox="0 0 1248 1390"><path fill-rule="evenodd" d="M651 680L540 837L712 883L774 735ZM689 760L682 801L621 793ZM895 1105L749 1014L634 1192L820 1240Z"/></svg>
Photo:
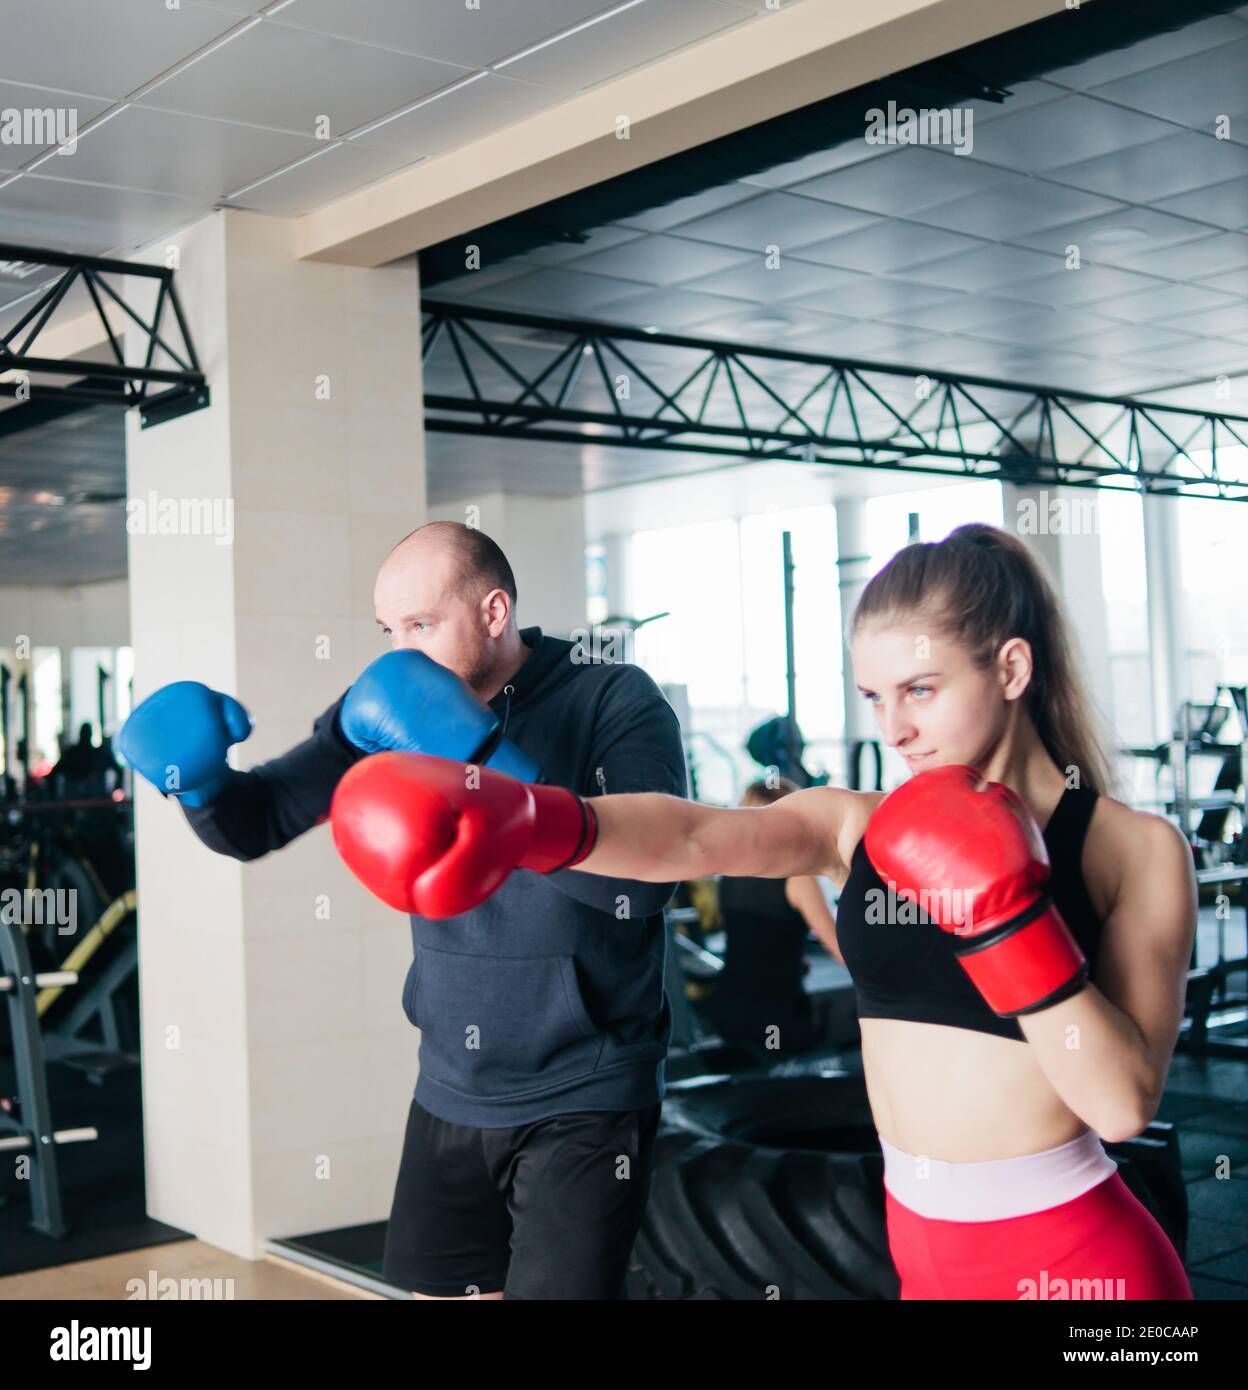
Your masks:
<svg viewBox="0 0 1248 1390"><path fill-rule="evenodd" d="M1066 1144L1088 1127L1049 1086L1026 1042L863 1019L862 1055L876 1129L906 1154L952 1163L1017 1158Z"/></svg>

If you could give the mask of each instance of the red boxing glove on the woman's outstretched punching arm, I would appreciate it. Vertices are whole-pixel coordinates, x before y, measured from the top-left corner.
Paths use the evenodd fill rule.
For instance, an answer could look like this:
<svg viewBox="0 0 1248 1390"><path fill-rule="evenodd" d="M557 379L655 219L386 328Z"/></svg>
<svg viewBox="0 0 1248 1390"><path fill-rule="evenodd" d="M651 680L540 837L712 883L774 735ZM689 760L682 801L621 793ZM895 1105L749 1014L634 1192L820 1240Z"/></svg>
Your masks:
<svg viewBox="0 0 1248 1390"><path fill-rule="evenodd" d="M575 792L424 753L361 759L339 781L329 821L360 883L421 917L470 912L513 869L568 869L598 837Z"/></svg>

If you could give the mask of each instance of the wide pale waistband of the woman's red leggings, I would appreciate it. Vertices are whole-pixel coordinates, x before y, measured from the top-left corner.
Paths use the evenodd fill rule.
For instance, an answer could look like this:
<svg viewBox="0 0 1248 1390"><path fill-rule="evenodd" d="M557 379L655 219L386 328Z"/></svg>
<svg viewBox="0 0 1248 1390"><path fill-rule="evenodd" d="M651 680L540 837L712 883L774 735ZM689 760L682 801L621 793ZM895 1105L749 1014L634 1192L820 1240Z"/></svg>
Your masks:
<svg viewBox="0 0 1248 1390"><path fill-rule="evenodd" d="M1020 1158L949 1163L894 1148L884 1150L884 1186L892 1197L933 1220L1008 1220L1074 1201L1117 1172L1101 1136L1088 1130L1069 1144Z"/></svg>

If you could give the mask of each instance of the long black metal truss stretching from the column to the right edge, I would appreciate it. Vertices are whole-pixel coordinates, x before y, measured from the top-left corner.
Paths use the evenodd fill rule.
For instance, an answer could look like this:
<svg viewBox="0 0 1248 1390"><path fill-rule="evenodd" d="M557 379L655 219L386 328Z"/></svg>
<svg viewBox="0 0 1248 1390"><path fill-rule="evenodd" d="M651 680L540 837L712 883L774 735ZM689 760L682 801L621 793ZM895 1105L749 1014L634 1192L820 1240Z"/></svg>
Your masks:
<svg viewBox="0 0 1248 1390"><path fill-rule="evenodd" d="M1248 502L1245 416L438 300L422 310L436 432ZM535 349L549 354L541 371Z"/></svg>

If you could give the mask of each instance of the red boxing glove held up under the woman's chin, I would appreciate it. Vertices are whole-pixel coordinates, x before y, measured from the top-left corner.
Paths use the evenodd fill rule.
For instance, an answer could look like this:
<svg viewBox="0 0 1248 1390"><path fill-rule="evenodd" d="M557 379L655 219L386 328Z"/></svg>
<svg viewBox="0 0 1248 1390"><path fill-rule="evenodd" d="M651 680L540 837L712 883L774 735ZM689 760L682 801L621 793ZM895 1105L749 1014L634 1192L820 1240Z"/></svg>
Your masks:
<svg viewBox="0 0 1248 1390"><path fill-rule="evenodd" d="M867 823L867 858L901 897L953 934L955 954L1002 1017L1087 984L1088 962L1048 894L1040 827L974 767L933 767L889 792Z"/></svg>

